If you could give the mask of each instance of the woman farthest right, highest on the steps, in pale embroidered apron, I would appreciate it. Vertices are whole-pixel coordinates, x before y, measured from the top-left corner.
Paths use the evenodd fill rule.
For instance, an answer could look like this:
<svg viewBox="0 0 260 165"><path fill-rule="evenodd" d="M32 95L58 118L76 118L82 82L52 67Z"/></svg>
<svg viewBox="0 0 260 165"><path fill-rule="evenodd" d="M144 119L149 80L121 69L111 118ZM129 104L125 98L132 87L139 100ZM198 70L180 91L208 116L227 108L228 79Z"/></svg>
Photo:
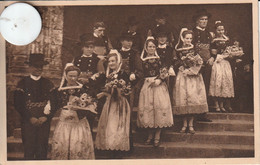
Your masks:
<svg viewBox="0 0 260 165"><path fill-rule="evenodd" d="M230 53L226 51L229 38L225 35L224 24L215 23L215 37L211 43L211 53L215 56L212 66L209 96L214 97L217 112L226 112L223 102L226 101L227 110L232 111L230 98L234 97L233 75L230 63Z"/></svg>

